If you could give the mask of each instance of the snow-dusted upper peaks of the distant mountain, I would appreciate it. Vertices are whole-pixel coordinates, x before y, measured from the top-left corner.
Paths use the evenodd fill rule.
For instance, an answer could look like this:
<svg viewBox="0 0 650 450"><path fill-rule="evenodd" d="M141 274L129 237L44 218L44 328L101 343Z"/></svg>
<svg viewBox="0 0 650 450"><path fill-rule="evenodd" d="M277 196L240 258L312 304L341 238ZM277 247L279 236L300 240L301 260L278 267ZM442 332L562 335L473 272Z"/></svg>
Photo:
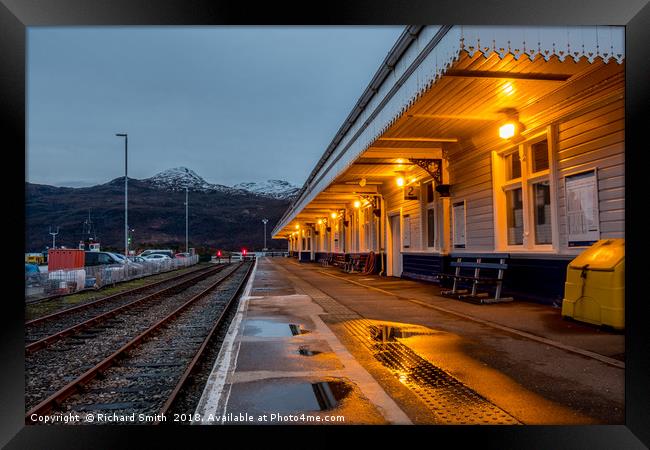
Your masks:
<svg viewBox="0 0 650 450"><path fill-rule="evenodd" d="M187 167L175 167L164 170L151 178L142 180L158 189L182 191L185 187L191 191L227 192L234 195L251 193L275 199L288 199L294 196L299 188L283 180L267 180L264 182L239 183L232 187L223 184L212 184Z"/></svg>

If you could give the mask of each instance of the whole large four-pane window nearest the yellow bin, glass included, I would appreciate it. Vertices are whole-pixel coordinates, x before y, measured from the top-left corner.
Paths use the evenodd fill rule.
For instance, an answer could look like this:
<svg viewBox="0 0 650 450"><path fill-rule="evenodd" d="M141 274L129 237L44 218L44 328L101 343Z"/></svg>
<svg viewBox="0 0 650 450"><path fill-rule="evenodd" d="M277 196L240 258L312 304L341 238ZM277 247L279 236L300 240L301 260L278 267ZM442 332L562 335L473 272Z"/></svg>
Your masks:
<svg viewBox="0 0 650 450"><path fill-rule="evenodd" d="M553 201L547 133L496 155L495 222L502 249L551 249Z"/></svg>

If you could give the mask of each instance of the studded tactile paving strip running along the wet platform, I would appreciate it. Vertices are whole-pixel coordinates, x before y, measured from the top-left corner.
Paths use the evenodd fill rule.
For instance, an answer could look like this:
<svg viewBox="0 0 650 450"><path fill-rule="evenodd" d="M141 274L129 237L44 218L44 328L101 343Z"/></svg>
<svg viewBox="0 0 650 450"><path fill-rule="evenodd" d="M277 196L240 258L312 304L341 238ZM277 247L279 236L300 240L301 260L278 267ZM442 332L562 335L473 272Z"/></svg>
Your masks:
<svg viewBox="0 0 650 450"><path fill-rule="evenodd" d="M288 271L287 271L288 272ZM316 301L399 381L413 391L442 425L518 425L517 419L310 283L289 275L296 289Z"/></svg>

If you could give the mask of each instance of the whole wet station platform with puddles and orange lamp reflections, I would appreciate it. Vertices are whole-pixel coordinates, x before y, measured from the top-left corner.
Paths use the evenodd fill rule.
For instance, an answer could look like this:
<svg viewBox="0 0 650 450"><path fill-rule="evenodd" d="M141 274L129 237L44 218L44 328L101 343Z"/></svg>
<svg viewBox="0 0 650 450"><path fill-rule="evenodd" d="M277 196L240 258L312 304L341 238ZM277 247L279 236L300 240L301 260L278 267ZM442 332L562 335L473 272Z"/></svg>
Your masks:
<svg viewBox="0 0 650 450"><path fill-rule="evenodd" d="M261 258L203 424L622 424L624 335L525 302Z"/></svg>

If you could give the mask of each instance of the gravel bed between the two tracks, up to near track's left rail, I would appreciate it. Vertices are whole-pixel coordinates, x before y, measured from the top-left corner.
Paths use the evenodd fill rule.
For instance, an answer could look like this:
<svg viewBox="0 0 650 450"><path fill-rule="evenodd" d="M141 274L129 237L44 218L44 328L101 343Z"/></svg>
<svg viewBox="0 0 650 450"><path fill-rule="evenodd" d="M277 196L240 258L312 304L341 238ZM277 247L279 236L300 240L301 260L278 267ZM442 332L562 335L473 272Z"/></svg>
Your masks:
<svg viewBox="0 0 650 450"><path fill-rule="evenodd" d="M123 305L119 311L103 317L95 324L77 328L45 346L27 352L27 408L34 409L37 405L42 407L43 404L48 404L48 399L60 398L60 391L70 383L73 386L83 385L108 367L105 364L106 358L130 348L129 343L148 335L151 330L161 326L164 320L168 320L170 315L176 314L179 308L185 308L207 296L226 280L241 273L241 269L241 264L224 266L200 280L188 283L190 285L180 292L158 296L155 302L138 301ZM90 378L89 373L93 374ZM49 404L51 406L53 403Z"/></svg>

